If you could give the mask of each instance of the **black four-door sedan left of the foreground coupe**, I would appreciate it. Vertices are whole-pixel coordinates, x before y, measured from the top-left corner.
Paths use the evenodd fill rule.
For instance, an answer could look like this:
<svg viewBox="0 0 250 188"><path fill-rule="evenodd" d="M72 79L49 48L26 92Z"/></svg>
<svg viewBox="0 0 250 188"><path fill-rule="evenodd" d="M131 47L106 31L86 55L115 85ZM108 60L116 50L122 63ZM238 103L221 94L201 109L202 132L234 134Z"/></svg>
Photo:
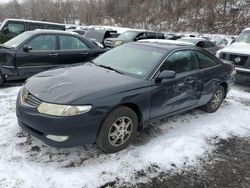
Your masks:
<svg viewBox="0 0 250 188"><path fill-rule="evenodd" d="M0 45L0 85L54 67L87 62L106 50L66 31L27 31Z"/></svg>

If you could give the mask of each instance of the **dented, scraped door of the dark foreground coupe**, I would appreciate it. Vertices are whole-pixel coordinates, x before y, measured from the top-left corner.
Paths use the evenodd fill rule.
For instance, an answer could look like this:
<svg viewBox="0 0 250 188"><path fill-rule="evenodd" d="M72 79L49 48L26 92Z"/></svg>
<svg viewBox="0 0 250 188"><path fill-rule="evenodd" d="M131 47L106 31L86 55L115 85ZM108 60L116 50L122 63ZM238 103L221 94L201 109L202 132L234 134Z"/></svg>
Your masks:
<svg viewBox="0 0 250 188"><path fill-rule="evenodd" d="M157 74L164 70L175 71L176 77L154 83L151 118L194 106L201 96L201 72L198 70L197 59L192 50L172 53Z"/></svg>

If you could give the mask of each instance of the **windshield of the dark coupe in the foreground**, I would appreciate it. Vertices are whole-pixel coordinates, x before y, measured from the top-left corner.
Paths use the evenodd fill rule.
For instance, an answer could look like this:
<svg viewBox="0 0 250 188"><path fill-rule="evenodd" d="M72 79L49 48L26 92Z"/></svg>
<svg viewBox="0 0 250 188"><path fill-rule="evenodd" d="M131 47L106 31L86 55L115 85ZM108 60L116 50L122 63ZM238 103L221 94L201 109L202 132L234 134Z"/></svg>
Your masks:
<svg viewBox="0 0 250 188"><path fill-rule="evenodd" d="M124 44L99 56L93 63L122 74L144 78L165 54L165 49Z"/></svg>

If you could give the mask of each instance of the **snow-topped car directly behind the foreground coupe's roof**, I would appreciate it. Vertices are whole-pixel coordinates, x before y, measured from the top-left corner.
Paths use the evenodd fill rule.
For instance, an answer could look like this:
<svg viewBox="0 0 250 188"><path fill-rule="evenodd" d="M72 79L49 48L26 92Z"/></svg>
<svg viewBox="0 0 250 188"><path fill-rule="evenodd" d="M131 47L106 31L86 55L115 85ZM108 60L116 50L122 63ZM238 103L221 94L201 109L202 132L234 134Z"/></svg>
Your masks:
<svg viewBox="0 0 250 188"><path fill-rule="evenodd" d="M195 44L197 47L203 48L207 51L209 51L211 54L216 54L216 52L221 49L221 47L216 46L213 42L205 39L205 38L199 38L199 37L183 37L180 39L177 39L178 41L183 42L190 42Z"/></svg>

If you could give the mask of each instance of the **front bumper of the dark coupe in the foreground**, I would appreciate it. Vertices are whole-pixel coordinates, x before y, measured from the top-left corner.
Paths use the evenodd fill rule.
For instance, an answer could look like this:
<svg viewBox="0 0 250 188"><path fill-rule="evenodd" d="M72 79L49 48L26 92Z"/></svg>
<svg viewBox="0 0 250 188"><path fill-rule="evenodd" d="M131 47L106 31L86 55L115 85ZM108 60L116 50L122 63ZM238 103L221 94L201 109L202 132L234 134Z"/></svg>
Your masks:
<svg viewBox="0 0 250 188"><path fill-rule="evenodd" d="M32 136L53 147L74 147L95 143L102 115L86 113L72 117L40 114L36 108L21 103L20 92L16 102L18 124ZM46 138L47 135L68 136L64 142Z"/></svg>

